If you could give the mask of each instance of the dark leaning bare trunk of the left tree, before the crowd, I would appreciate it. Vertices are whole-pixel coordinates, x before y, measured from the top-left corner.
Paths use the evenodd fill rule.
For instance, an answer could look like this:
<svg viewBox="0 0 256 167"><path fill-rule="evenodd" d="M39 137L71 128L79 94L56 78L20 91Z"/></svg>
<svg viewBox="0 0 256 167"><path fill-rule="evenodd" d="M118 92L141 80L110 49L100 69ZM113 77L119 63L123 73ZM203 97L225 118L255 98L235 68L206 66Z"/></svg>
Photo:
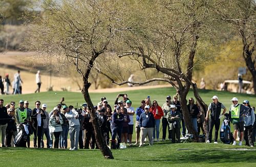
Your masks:
<svg viewBox="0 0 256 167"><path fill-rule="evenodd" d="M95 110L93 109L94 106L93 106L93 103L91 101L91 97L90 97L89 91L88 91L90 86L91 86L91 83L88 82L88 78L83 78L82 94L83 94L84 100L86 100L86 102L88 104L88 107L91 108L91 113L92 113L91 119L92 119L93 128L94 128L94 132L95 132L96 143L99 147L99 150L102 152L102 154L105 158L114 159L111 150L104 142L103 136L101 134L98 119L96 118L96 113L95 113Z"/></svg>

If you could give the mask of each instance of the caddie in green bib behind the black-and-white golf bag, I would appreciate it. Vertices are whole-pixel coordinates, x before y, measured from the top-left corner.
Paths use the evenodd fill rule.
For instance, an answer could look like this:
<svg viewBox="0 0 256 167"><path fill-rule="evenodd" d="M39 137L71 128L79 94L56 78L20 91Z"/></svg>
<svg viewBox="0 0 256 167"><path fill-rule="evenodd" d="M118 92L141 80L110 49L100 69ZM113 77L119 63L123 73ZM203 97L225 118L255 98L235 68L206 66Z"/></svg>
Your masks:
<svg viewBox="0 0 256 167"><path fill-rule="evenodd" d="M13 106L15 106L15 103L11 102L11 108ZM19 107L15 109L15 120L16 120L17 132L19 132L21 130L20 124L29 122L29 120L30 120L30 114L29 114L27 108L24 107L23 100L19 100ZM26 143L23 143L19 147L26 147Z"/></svg>

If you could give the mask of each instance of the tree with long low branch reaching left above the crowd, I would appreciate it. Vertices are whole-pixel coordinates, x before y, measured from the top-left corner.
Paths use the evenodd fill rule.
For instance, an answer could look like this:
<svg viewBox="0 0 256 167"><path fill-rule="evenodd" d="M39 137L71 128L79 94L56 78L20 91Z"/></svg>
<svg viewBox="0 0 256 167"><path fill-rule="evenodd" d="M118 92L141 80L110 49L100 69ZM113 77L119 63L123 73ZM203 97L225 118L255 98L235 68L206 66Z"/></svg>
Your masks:
<svg viewBox="0 0 256 167"><path fill-rule="evenodd" d="M206 3L207 2L207 3ZM198 42L214 37L214 26L210 26L215 19L210 8L214 2L210 1L151 1L130 7L134 11L133 18L139 23L130 30L129 34L121 34L119 48L116 49L120 59L131 58L138 62L142 70L155 69L164 74L164 78L149 78L144 82L130 82L132 84L147 84L161 80L171 84L180 95L184 120L189 133L197 138L198 134L190 122L187 108L187 94L190 87L199 105L207 110L207 105L197 91L197 85L192 81L193 68L207 61L199 57L196 50ZM122 41L120 41L122 39ZM129 81L118 82L107 72L99 71L117 85Z"/></svg>

